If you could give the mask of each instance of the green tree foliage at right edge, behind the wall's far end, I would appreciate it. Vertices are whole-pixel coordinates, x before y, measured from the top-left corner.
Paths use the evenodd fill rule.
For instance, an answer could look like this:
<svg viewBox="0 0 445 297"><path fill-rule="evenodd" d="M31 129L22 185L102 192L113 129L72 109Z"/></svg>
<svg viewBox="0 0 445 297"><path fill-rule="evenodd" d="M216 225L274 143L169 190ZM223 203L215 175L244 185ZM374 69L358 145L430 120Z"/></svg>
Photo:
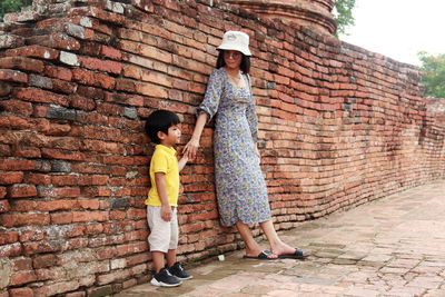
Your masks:
<svg viewBox="0 0 445 297"><path fill-rule="evenodd" d="M437 56L425 51L418 52L419 68L425 86L425 96L445 98L445 53Z"/></svg>

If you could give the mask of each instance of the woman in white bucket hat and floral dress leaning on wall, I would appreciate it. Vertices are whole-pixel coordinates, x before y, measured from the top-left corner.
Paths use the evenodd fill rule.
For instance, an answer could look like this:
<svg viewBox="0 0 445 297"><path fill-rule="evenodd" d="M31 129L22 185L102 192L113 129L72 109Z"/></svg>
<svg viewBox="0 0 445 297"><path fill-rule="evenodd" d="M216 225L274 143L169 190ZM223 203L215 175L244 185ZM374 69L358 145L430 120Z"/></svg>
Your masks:
<svg viewBox="0 0 445 297"><path fill-rule="evenodd" d="M214 133L215 180L221 225L236 226L246 244L245 258L305 258L300 249L284 244L275 231L257 149L258 121L250 87L249 37L228 31L217 48L206 96L185 154L195 158L206 122L216 117ZM264 250L249 225L259 224L270 245Z"/></svg>

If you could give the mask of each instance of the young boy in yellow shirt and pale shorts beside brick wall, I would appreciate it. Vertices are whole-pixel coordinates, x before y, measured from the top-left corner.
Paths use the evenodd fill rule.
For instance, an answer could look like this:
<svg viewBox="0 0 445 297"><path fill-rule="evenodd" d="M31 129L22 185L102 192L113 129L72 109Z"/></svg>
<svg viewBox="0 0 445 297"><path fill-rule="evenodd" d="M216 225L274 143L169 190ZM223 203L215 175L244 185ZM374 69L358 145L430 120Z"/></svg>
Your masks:
<svg viewBox="0 0 445 297"><path fill-rule="evenodd" d="M151 189L146 200L150 227L148 242L155 266L151 284L161 287L176 287L182 279L192 277L176 261L179 171L188 161L187 157L182 157L179 162L176 158L174 146L180 141L181 136L179 122L178 116L168 110L154 111L146 122L148 137L157 143L150 162Z"/></svg>

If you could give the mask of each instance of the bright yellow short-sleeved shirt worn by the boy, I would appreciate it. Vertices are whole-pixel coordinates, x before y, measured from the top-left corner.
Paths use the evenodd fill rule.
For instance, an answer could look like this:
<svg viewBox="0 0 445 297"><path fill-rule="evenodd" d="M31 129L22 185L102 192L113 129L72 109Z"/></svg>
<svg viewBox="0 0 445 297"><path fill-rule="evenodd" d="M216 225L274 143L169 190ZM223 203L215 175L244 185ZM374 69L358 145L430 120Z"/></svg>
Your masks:
<svg viewBox="0 0 445 297"><path fill-rule="evenodd" d="M146 205L161 206L158 190L156 189L155 172L164 172L167 188L167 197L170 206L178 206L179 196L179 169L176 150L162 145L157 145L150 162L151 189L148 192Z"/></svg>

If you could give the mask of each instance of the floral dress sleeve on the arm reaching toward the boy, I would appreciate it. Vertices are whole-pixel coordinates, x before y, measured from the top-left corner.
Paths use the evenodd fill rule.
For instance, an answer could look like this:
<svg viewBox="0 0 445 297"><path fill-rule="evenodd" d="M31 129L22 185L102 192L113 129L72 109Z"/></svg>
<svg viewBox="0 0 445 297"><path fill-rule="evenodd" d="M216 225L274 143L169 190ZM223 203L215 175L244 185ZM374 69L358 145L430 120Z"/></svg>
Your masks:
<svg viewBox="0 0 445 297"><path fill-rule="evenodd" d="M218 71L218 69L214 69L207 83L207 90L204 100L197 108L197 115L206 112L208 115L207 121L209 122L218 111L219 100L221 98L222 90L222 72Z"/></svg>

